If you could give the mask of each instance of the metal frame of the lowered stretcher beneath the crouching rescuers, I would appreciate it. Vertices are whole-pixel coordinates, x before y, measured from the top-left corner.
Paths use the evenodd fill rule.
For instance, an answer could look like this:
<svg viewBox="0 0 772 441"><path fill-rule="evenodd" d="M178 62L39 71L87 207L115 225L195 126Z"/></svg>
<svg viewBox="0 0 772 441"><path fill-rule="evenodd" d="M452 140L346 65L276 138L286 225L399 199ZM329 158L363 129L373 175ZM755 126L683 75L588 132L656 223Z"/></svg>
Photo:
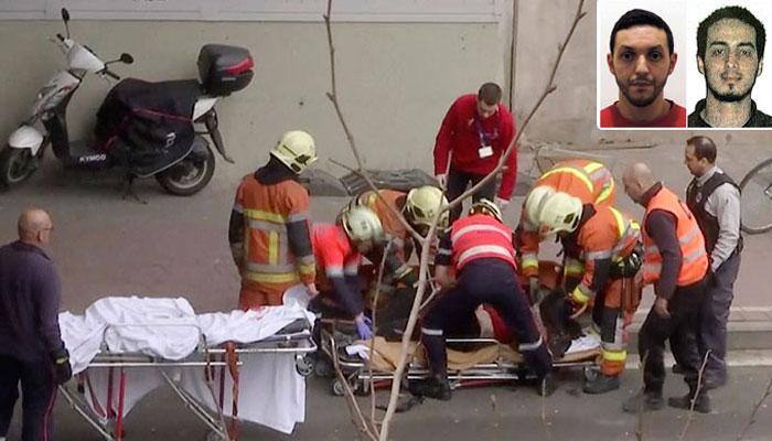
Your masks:
<svg viewBox="0 0 772 441"><path fill-rule="evenodd" d="M343 376L346 378L351 390L355 394L366 395L371 391L369 385L390 385L394 380L393 372L383 370L372 370L367 366L366 361L353 362L351 359L341 358L341 347L334 338L334 330L337 323L347 323L347 321L339 320L325 320L323 321L323 327L321 329L321 351L333 359L336 358L337 365L341 367ZM501 346L502 343L495 338L446 338L446 343L459 343L459 344L480 344L480 345L497 345ZM600 348L598 351L600 353ZM554 368L583 368L590 369L598 366L599 354L588 354L588 357L576 359L576 361L562 361L557 359L553 362ZM333 363L333 364L334 364ZM407 379L422 379L429 375L429 370L425 366L416 366L410 364L406 369ZM505 381L524 381L526 379L535 378L530 370L528 370L527 365L522 363L514 363L498 354L497 358L493 363L476 364L469 369L457 370L448 369L448 380L450 381L451 388L462 388L462 387L474 387L483 386L487 384L498 384ZM332 392L336 396L344 395L344 387L340 379L335 378L332 384Z"/></svg>

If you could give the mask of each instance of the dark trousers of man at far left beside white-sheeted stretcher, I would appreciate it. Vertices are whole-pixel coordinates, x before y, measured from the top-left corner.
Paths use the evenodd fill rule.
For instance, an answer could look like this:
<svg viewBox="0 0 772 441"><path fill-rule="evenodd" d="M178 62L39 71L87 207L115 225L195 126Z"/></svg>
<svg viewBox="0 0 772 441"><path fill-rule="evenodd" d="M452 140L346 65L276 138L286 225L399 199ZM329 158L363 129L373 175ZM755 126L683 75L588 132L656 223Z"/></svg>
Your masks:
<svg viewBox="0 0 772 441"><path fill-rule="evenodd" d="M53 440L56 384L49 361L21 362L0 355L0 437L8 435L13 406L22 394L22 441Z"/></svg>

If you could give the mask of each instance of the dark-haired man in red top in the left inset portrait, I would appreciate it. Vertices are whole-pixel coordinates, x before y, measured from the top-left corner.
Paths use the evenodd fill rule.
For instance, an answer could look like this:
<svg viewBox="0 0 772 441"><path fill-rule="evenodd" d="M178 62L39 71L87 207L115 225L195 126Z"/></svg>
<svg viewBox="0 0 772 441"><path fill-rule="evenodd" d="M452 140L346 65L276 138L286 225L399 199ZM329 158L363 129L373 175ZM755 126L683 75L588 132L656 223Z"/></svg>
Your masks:
<svg viewBox="0 0 772 441"><path fill-rule="evenodd" d="M686 109L665 99L678 60L667 23L653 12L630 10L614 24L609 47L619 100L600 111L600 127L686 127Z"/></svg>

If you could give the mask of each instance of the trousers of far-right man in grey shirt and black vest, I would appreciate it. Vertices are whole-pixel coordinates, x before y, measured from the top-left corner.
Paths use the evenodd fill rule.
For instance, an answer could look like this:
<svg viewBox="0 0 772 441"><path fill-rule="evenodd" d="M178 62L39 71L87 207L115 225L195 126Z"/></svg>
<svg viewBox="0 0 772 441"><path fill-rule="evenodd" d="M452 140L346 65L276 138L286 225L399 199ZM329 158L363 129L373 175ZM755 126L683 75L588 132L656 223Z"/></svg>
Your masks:
<svg viewBox="0 0 772 441"><path fill-rule="evenodd" d="M706 286L706 300L699 314L697 344L690 349L699 352L700 366L710 351L703 377L706 381L721 385L727 379L727 321L729 306L735 299L733 288L740 271L740 254L732 255L714 273Z"/></svg>

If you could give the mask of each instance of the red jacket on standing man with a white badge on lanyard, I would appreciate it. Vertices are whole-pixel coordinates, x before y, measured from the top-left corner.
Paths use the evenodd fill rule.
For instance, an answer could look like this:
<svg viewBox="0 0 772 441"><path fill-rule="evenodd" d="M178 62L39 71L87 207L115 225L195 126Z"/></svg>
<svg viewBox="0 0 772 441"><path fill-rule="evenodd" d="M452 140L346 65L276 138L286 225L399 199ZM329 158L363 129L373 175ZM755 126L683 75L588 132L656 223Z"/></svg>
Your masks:
<svg viewBox="0 0 772 441"><path fill-rule="evenodd" d="M480 136L478 123L489 138L493 155L480 159ZM498 111L486 119L478 115L478 95L469 94L459 97L444 116L435 143L435 174L443 174L448 170L448 155L452 151L454 169L480 175L493 171L498 160L516 133L515 121L510 110L498 105ZM510 200L515 187L517 175L517 149L510 154L504 169L498 197Z"/></svg>

